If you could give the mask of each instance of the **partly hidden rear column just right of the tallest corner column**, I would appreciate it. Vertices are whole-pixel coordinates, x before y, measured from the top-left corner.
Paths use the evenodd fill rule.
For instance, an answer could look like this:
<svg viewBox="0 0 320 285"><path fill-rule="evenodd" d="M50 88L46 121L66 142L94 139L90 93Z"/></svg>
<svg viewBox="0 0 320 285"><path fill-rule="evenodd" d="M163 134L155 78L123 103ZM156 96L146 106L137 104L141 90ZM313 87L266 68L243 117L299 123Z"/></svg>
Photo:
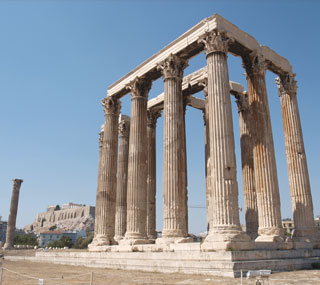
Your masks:
<svg viewBox="0 0 320 285"><path fill-rule="evenodd" d="M251 134L251 112L249 109L248 94L239 94L236 96L239 126L240 126L240 145L241 145L241 164L242 181L245 204L246 232L255 239L258 235L258 207L256 185L254 179L253 163L253 144Z"/></svg>

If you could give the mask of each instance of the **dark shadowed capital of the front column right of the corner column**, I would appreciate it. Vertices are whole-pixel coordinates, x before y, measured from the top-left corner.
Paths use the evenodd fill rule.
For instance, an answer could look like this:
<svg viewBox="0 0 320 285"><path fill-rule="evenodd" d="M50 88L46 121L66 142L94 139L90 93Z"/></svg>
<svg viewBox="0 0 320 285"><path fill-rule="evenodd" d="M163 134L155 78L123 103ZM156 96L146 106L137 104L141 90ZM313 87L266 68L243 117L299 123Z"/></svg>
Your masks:
<svg viewBox="0 0 320 285"><path fill-rule="evenodd" d="M246 70L246 76L265 76L268 69L268 64L266 63L264 56L259 51L252 51L248 56L244 57L242 65Z"/></svg>

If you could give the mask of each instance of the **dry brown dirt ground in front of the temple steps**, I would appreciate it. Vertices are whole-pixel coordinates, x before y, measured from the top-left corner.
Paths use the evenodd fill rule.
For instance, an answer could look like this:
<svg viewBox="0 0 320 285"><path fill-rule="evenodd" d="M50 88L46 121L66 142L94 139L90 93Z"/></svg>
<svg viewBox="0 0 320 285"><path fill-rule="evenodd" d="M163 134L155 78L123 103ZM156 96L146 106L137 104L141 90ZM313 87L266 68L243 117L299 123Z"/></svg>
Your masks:
<svg viewBox="0 0 320 285"><path fill-rule="evenodd" d="M0 254L2 254L0 252ZM34 253L33 253L34 254ZM10 255L33 255L11 252ZM31 285L40 284L39 279L44 279L43 284L94 284L94 285L127 285L127 284L241 284L240 278L225 278L205 275L147 273L140 271L113 270L89 268L83 266L56 265L30 261L2 262L1 285ZM1 266L0 266L1 268ZM1 274L1 269L0 269ZM90 283L93 274L93 281ZM243 279L243 284L258 284L255 279ZM302 270L295 272L273 273L269 280L261 280L260 284L320 284L320 270Z"/></svg>

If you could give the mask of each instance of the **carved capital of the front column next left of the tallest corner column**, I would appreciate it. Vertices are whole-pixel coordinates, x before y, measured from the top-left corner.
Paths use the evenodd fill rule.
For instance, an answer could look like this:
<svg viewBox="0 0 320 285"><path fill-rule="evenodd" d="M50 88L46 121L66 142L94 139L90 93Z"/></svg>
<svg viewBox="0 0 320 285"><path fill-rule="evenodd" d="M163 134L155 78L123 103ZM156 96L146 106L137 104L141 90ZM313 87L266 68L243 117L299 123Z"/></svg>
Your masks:
<svg viewBox="0 0 320 285"><path fill-rule="evenodd" d="M188 61L181 59L175 54L170 54L164 61L157 66L161 70L163 79L178 78L182 80L183 70L188 66Z"/></svg>

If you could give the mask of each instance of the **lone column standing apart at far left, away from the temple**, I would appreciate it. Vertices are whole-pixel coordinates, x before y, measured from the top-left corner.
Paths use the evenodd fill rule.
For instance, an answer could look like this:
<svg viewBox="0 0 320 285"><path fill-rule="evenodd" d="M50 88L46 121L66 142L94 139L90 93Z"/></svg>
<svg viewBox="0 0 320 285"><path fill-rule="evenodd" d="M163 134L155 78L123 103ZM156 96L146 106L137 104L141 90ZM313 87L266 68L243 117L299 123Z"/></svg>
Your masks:
<svg viewBox="0 0 320 285"><path fill-rule="evenodd" d="M13 248L13 240L14 240L14 233L16 231L16 220L17 220L17 212L18 212L18 204L19 204L19 193L20 193L21 183L23 182L23 180L13 179L12 182L13 182L13 189L12 189L10 212L9 212L9 218L8 218L6 242L4 244L4 249Z"/></svg>

